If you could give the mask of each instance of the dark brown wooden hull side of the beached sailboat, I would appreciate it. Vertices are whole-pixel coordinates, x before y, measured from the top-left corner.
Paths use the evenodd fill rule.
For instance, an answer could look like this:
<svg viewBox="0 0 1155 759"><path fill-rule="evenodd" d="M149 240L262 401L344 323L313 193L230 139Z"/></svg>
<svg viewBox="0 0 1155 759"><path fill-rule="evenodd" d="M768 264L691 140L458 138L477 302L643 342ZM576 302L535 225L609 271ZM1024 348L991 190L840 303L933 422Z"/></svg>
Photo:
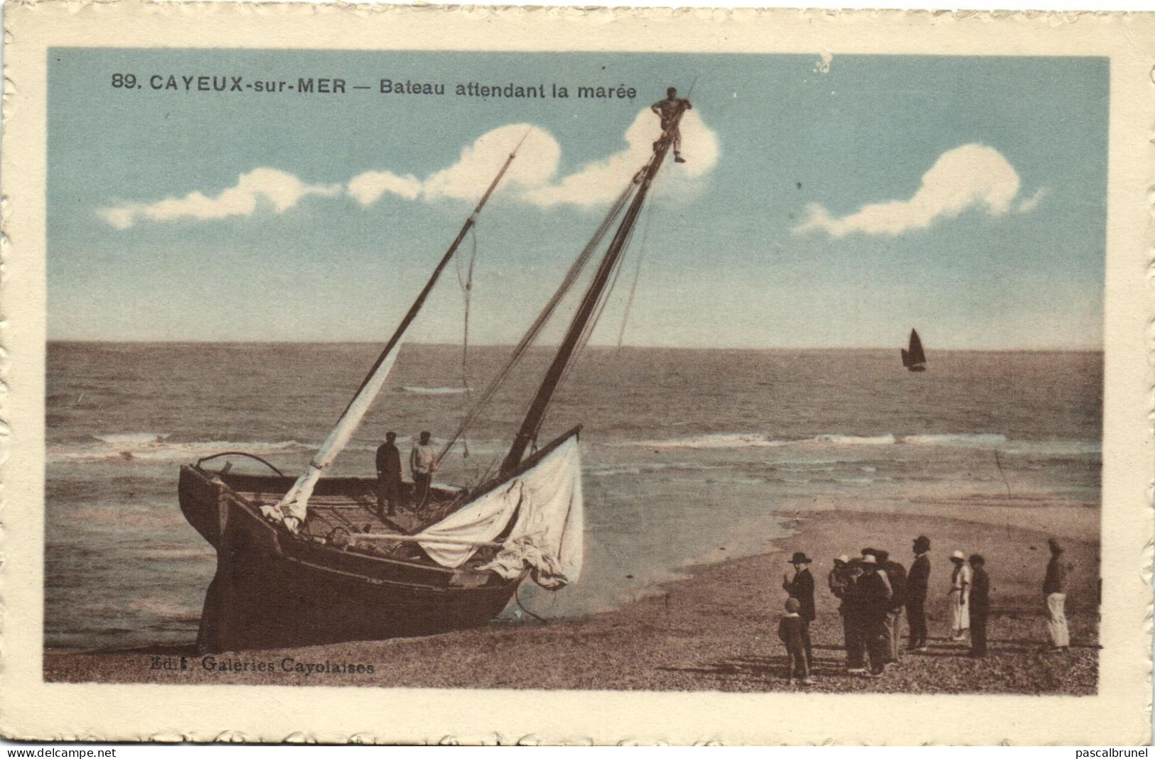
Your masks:
<svg viewBox="0 0 1155 759"><path fill-rule="evenodd" d="M281 478L267 478L274 479ZM289 484L285 480L285 489ZM179 493L189 524L217 549L198 634L206 652L477 626L505 608L521 579L319 544L267 521L232 488L195 467L181 467Z"/></svg>

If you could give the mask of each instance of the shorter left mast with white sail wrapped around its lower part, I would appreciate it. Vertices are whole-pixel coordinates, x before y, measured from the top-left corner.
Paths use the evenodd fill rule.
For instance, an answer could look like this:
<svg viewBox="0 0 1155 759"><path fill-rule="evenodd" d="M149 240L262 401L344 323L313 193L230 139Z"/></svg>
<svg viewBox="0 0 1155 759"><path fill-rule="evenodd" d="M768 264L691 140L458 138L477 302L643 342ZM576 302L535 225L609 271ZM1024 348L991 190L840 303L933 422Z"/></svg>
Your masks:
<svg viewBox="0 0 1155 759"><path fill-rule="evenodd" d="M479 200L477 205L474 206L474 212L470 213L469 218L465 219L465 223L461 225L461 231L457 232L457 236L454 238L449 248L445 251L441 260L433 269L433 273L430 276L429 281L425 283L425 287L423 287L422 292L418 293L417 300L413 301L413 305L409 307L409 310L405 313L404 317L402 317L401 324L397 325L393 337L390 337L389 341L386 343L385 348L377 358L373 367L362 381L360 386L357 388L357 392L353 393L352 400L350 400L349 405L345 406L345 409L341 412L341 416L337 419L337 423L333 428L333 431L329 433L329 436L321 444L316 454L310 459L308 468L305 469L305 473L297 479L293 486L288 493L285 493L284 497L281 498L275 506L262 508L262 512L266 513L266 516L273 517L274 519L280 517L281 520L285 521L286 526L293 531L299 527L300 523L304 523L305 516L308 511L308 499L313 495L313 488L315 487L316 481L321 479L325 469L333 464L333 460L336 459L337 454L344 450L349 439L352 437L353 431L356 431L357 427L360 426L362 419L364 419L365 414L368 412L373 400L381 391L381 388L385 386L385 381L389 376L389 370L393 369L393 365L397 359L397 346L401 343L401 338L404 336L405 330L409 329L412 321L417 318L417 314L422 310L422 306L425 303L425 299L429 296L430 291L433 290L433 286L437 284L441 272L445 270L446 265L448 265L449 260L453 258L453 254L457 251L457 248L465 239L465 235L469 234L469 230L477 223L477 216L482 212L482 209L485 208L485 203L489 202L493 190L495 190L498 183L501 182L501 178L505 176L506 171L509 168L509 164L513 163L513 159L517 156L517 150L521 149L522 143L526 142L526 137L528 136L529 131L527 130L526 135L522 136L521 142L517 143L517 146L513 149L509 157L506 158L505 163L501 165L501 170L498 172L497 176L494 176L493 181L490 182L485 194L482 195L482 200Z"/></svg>

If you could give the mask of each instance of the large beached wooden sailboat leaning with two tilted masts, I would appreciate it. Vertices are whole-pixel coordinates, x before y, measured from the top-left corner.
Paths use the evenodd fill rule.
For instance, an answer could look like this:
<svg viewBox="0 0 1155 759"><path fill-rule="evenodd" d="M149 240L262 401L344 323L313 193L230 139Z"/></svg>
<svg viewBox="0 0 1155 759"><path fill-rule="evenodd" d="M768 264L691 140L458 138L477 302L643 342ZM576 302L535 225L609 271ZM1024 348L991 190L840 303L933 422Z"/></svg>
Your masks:
<svg viewBox="0 0 1155 759"><path fill-rule="evenodd" d="M198 645L236 651L418 636L476 626L498 615L531 576L556 588L581 572L583 512L579 428L535 450L546 409L604 307L639 212L662 167L680 112L634 174L561 285L479 394L454 441L517 363L613 228L553 361L500 469L472 488L434 486L419 513L377 513L375 480L323 478L385 385L400 343L516 150L491 182L405 314L333 433L299 478L247 453L180 469L180 508L216 548ZM620 220L619 220L620 219ZM218 459L248 456L274 474L232 473ZM440 458L439 458L440 460ZM405 486L411 487L411 486Z"/></svg>

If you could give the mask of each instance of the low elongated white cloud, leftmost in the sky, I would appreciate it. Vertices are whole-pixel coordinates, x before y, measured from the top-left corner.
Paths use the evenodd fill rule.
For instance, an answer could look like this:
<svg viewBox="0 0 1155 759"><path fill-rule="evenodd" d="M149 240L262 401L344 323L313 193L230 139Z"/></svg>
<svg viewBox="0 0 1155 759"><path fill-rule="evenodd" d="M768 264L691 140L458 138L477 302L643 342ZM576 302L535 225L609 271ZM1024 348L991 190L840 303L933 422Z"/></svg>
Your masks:
<svg viewBox="0 0 1155 759"><path fill-rule="evenodd" d="M288 172L259 167L241 174L236 185L215 196L194 190L184 197L166 197L155 203L122 203L99 209L98 213L118 230L127 230L140 219L170 221L180 218L203 220L252 216L262 201L270 204L276 213L283 213L303 197L333 197L340 195L341 190L341 185L306 185Z"/></svg>

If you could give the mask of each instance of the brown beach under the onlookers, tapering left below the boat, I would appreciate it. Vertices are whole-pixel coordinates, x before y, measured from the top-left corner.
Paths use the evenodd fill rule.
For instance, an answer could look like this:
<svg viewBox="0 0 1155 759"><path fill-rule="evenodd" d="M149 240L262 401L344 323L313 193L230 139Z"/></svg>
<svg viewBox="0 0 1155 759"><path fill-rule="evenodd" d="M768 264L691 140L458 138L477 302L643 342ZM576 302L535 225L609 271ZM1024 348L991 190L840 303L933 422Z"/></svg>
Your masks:
<svg viewBox="0 0 1155 759"><path fill-rule="evenodd" d="M813 691L1094 693L1097 682L1097 539L1095 504L967 499L902 513L869 502L787 512L795 534L761 556L701 566L657 595L587 617L492 623L429 638L239 652L206 659L192 646L52 653L49 682L247 683L410 687L590 690L787 690L776 637L785 599L782 576L795 550L813 559L818 619L812 625ZM1048 529L1040 532L1038 527ZM911 539L933 543L927 599L931 644L907 654L879 679L844 672L836 600L826 587L830 559L865 546L909 566ZM1045 653L1042 578L1046 538L1063 539L1074 565L1067 595L1070 654ZM724 546L720 546L720 549ZM971 660L946 640L951 551L986 557L992 585L990 655ZM530 609L532 610L532 609ZM902 623L906 632L906 619ZM211 664L210 669L208 666ZM159 668L157 668L159 667ZM184 667L184 669L181 669ZM229 669L223 669L228 667ZM171 668L171 669L170 669ZM372 670L372 671L370 671Z"/></svg>

